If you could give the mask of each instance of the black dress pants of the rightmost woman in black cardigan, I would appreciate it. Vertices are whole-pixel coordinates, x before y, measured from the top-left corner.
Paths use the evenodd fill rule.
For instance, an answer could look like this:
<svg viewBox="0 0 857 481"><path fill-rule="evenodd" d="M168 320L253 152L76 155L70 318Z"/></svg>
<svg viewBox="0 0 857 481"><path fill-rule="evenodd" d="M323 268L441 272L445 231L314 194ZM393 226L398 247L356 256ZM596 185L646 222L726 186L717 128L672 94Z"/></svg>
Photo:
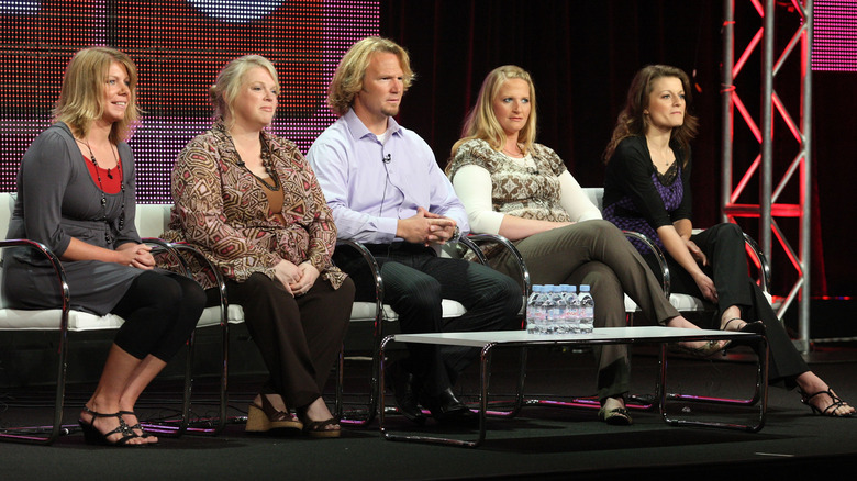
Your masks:
<svg viewBox="0 0 857 481"><path fill-rule="evenodd" d="M765 324L765 335L770 348L769 380L770 383L782 383L792 389L797 385L794 379L810 370L786 328L777 317L761 289L749 277L747 257L744 250L744 234L736 224L717 224L691 236L708 258L703 271L714 281L717 289L717 315L712 325L706 328L720 328L720 313L737 305L742 318L747 322L761 321ZM703 299L697 282L671 256L666 254L669 265L671 291L690 294ZM645 256L652 270L661 278L660 267L655 256Z"/></svg>

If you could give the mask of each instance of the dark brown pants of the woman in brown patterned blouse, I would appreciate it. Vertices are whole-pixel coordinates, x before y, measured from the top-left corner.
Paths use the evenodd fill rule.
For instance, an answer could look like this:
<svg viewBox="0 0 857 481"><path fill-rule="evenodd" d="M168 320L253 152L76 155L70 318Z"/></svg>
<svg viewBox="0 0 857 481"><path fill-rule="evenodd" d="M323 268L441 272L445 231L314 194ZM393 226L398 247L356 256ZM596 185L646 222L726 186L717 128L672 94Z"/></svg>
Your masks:
<svg viewBox="0 0 857 481"><path fill-rule="evenodd" d="M207 291L219 305L216 289ZM322 395L348 327L354 283L333 289L321 277L297 298L281 282L254 273L244 282L226 280L230 303L241 304L253 340L268 368L261 393L282 396L290 407L303 407Z"/></svg>

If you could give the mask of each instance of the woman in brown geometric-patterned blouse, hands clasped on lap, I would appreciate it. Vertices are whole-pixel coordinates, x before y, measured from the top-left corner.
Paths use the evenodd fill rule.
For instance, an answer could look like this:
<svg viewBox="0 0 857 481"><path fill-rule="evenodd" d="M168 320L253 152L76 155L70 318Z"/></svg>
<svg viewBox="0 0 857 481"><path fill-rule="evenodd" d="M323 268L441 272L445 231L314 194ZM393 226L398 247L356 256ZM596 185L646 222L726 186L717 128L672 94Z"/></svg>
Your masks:
<svg viewBox="0 0 857 481"><path fill-rule="evenodd" d="M322 399L348 324L354 284L331 264L336 227L298 147L265 131L280 87L260 56L232 60L210 91L216 121L172 171L165 236L187 240L221 269L270 377L249 405L247 432L340 435ZM219 303L209 279L209 305ZM290 409L297 412L297 416Z"/></svg>

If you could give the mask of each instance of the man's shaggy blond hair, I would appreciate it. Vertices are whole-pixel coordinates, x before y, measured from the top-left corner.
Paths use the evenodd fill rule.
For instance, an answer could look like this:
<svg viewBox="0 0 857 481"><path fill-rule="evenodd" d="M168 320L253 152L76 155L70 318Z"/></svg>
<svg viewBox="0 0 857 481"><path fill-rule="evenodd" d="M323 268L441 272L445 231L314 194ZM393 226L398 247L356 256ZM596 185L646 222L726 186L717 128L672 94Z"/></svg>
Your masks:
<svg viewBox="0 0 857 481"><path fill-rule="evenodd" d="M363 90L366 69L369 68L372 55L377 53L396 55L402 68L404 90L407 91L411 87L414 74L411 70L411 59L408 52L391 40L379 36L366 37L352 45L333 74L333 79L327 88L327 105L333 113L343 115L352 108L354 96Z"/></svg>

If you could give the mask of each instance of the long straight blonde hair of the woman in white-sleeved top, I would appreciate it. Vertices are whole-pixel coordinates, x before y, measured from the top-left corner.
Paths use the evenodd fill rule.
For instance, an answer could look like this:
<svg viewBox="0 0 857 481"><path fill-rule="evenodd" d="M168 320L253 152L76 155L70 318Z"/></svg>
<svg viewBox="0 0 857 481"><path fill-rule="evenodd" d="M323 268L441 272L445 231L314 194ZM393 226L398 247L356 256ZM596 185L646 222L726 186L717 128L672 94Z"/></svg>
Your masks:
<svg viewBox="0 0 857 481"><path fill-rule="evenodd" d="M530 86L530 118L526 120L524 128L517 133L517 142L523 144L524 154L530 152L535 143L536 136L536 99L535 86L530 72L516 65L504 65L491 70L482 81L479 94L476 98L476 105L470 110L465 119L461 128L461 138L453 145L452 155L458 152L458 147L467 141L474 138L482 139L494 150L501 150L505 144L505 132L500 126L500 122L494 115L493 101L503 82L509 79L521 79Z"/></svg>

